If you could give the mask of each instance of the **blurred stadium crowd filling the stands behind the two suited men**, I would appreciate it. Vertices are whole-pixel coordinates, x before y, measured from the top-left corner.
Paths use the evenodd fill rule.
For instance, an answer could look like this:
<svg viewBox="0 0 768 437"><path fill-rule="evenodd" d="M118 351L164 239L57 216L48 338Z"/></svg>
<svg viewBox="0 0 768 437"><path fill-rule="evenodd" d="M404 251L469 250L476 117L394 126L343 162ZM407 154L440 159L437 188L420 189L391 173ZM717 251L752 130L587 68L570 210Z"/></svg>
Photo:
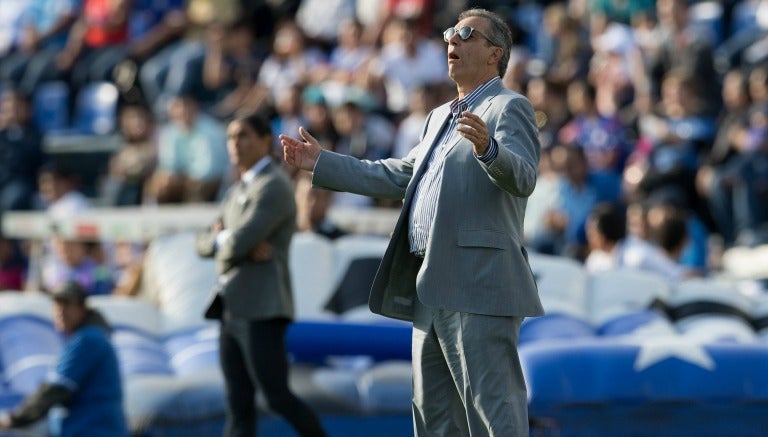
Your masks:
<svg viewBox="0 0 768 437"><path fill-rule="evenodd" d="M471 6L509 19L503 80L539 123L532 250L678 280L768 242L763 0L4 0L0 215L215 202L232 181L224 124L250 112L403 156L455 96L441 35ZM108 154L67 161L71 143ZM302 230L334 206L399 207L293 176ZM0 289L76 272L91 293L136 292L143 247L54 238L32 281L23 243L0 238Z"/></svg>

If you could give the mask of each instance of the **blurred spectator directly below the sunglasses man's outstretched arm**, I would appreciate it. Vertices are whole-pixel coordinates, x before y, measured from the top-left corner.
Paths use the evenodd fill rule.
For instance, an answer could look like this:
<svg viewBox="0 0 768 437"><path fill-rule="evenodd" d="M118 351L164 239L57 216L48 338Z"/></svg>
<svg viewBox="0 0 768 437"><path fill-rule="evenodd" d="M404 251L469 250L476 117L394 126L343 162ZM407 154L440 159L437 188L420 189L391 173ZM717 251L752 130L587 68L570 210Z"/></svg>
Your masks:
<svg viewBox="0 0 768 437"><path fill-rule="evenodd" d="M312 178L299 173L295 180L297 229L334 240L347 233L328 217L335 193L312 186Z"/></svg>

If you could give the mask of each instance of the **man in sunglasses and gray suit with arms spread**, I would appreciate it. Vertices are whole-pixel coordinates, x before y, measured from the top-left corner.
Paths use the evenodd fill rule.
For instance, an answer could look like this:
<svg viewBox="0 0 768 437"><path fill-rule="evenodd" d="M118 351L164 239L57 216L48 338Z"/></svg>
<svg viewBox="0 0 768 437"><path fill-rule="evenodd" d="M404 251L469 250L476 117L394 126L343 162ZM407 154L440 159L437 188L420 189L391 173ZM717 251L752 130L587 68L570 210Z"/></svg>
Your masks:
<svg viewBox="0 0 768 437"><path fill-rule="evenodd" d="M332 153L304 129L280 139L317 186L404 199L369 304L413 321L416 435L528 435L517 341L523 318L543 313L521 243L538 131L500 80L512 45L500 17L467 10L443 37L458 97L429 114L405 158Z"/></svg>

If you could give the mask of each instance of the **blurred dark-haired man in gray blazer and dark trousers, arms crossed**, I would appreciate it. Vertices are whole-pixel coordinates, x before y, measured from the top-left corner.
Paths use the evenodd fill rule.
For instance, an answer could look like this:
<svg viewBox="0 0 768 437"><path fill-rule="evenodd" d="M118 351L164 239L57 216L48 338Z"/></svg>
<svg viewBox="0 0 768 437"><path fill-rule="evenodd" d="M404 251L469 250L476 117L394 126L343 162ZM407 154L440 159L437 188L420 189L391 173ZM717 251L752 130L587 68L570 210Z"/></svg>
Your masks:
<svg viewBox="0 0 768 437"><path fill-rule="evenodd" d="M294 316L288 248L296 204L290 179L269 156L272 141L261 117L229 124L227 151L240 180L227 192L219 219L197 238L198 254L215 257L219 272L206 317L221 320L225 435L255 435L258 387L300 435L324 436L317 416L288 387L285 333Z"/></svg>

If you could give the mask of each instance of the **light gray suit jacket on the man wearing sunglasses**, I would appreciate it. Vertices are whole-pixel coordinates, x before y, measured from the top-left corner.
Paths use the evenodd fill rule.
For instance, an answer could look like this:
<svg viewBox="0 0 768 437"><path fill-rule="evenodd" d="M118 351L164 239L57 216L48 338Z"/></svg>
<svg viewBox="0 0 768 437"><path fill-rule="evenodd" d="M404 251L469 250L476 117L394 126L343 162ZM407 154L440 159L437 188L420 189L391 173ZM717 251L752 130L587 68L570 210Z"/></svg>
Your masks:
<svg viewBox="0 0 768 437"><path fill-rule="evenodd" d="M491 86L470 111L499 145L488 166L472 143L449 144L438 207L423 264L410 255L408 222L425 163L450 117L434 109L419 144L402 159L375 162L323 151L314 185L372 197L404 199L369 298L371 311L412 320L414 298L426 306L495 316L543 314L522 245L527 198L536 185L541 147L533 108L522 95Z"/></svg>

